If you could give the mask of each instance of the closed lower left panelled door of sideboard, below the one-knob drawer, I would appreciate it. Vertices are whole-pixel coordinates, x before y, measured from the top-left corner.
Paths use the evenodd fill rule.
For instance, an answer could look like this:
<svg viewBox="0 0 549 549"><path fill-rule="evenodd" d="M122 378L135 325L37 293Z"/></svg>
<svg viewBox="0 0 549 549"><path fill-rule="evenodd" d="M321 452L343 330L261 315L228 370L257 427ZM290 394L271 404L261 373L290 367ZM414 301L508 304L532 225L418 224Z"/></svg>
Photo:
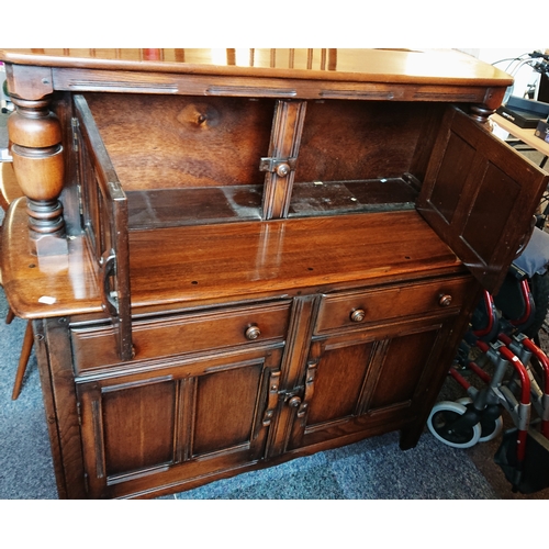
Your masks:
<svg viewBox="0 0 549 549"><path fill-rule="evenodd" d="M260 459L280 358L278 347L77 380L89 496L146 494Z"/></svg>

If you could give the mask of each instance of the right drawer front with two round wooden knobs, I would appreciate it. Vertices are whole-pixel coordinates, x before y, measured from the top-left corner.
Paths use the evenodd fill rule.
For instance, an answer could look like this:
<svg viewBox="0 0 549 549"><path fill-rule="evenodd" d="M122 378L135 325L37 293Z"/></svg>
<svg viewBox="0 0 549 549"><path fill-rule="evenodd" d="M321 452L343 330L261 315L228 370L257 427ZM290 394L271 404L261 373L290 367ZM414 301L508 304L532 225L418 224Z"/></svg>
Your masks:
<svg viewBox="0 0 549 549"><path fill-rule="evenodd" d="M412 315L444 313L462 306L474 291L470 278L438 280L404 287L326 295L320 307L315 334Z"/></svg>

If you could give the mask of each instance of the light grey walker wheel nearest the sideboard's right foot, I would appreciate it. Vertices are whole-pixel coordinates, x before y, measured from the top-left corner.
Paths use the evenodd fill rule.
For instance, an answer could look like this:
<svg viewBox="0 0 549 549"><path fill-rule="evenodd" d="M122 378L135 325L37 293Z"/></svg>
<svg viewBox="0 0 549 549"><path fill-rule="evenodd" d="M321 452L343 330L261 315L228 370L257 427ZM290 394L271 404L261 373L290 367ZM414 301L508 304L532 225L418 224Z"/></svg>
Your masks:
<svg viewBox="0 0 549 549"><path fill-rule="evenodd" d="M455 430L452 423L466 413L467 408L458 402L442 401L433 407L427 427L433 436L452 448L470 448L474 446L481 437L480 423L464 429Z"/></svg>

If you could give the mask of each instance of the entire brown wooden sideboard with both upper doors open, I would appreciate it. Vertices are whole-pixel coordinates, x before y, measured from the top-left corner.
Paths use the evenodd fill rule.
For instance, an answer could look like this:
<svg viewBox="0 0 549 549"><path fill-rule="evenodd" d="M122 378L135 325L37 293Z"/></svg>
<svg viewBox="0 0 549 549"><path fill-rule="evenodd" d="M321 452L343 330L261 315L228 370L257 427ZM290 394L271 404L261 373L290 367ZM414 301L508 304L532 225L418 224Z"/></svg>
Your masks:
<svg viewBox="0 0 549 549"><path fill-rule="evenodd" d="M464 54L1 51L60 497L152 497L400 430L417 444L547 176Z"/></svg>

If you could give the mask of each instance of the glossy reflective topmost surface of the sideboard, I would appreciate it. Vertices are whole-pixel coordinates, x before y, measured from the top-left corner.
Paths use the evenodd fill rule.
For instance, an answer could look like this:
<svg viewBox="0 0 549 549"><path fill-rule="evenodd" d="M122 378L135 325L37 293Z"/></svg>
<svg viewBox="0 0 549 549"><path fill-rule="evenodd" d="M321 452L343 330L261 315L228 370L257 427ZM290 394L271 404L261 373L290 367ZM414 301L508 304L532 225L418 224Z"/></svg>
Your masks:
<svg viewBox="0 0 549 549"><path fill-rule="evenodd" d="M452 49L20 48L14 65L385 83L506 87L506 72Z"/></svg>

